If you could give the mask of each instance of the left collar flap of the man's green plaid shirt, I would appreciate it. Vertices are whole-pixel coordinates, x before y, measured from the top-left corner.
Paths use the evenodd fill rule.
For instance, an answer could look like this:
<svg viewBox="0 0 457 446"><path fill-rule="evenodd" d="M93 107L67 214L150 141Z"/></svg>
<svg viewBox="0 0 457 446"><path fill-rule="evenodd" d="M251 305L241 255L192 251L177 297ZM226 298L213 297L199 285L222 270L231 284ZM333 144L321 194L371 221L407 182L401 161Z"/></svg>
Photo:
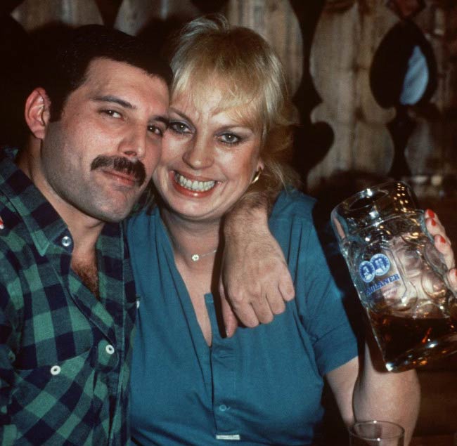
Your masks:
<svg viewBox="0 0 457 446"><path fill-rule="evenodd" d="M41 256L51 243L68 232L56 209L34 186L30 178L14 163L18 150L4 149L0 155L0 191L8 198L30 232Z"/></svg>

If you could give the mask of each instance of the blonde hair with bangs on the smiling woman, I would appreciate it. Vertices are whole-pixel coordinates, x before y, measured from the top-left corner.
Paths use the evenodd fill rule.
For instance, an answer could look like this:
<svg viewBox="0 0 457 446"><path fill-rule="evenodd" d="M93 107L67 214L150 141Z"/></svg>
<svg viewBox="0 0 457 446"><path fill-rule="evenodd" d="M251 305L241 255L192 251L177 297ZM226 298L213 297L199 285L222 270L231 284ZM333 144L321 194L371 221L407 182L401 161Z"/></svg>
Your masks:
<svg viewBox="0 0 457 446"><path fill-rule="evenodd" d="M298 185L297 173L288 166L292 105L285 72L265 39L252 29L229 25L223 15L212 15L185 25L173 48L172 100L185 92L198 104L207 88L219 86L223 108L236 108L241 119L262 131L264 171L250 190L278 192Z"/></svg>

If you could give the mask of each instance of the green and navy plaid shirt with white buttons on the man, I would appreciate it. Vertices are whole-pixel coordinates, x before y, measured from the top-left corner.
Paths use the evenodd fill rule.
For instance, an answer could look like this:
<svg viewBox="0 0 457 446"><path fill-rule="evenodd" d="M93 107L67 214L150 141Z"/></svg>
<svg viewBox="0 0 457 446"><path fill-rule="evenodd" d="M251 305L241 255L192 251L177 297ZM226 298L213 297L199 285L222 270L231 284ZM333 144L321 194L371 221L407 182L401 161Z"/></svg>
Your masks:
<svg viewBox="0 0 457 446"><path fill-rule="evenodd" d="M0 156L0 444L127 445L136 299L120 225L97 242L100 299L70 269L72 238Z"/></svg>

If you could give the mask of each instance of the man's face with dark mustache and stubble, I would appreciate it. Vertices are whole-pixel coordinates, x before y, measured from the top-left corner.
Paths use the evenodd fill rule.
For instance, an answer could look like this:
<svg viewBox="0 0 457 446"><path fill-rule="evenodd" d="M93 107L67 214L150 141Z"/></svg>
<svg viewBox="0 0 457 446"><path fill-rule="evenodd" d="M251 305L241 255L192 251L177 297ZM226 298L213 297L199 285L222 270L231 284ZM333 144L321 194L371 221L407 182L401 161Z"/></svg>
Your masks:
<svg viewBox="0 0 457 446"><path fill-rule="evenodd" d="M93 60L60 120L46 129L35 183L63 216L122 220L160 158L167 110L165 81L126 63Z"/></svg>

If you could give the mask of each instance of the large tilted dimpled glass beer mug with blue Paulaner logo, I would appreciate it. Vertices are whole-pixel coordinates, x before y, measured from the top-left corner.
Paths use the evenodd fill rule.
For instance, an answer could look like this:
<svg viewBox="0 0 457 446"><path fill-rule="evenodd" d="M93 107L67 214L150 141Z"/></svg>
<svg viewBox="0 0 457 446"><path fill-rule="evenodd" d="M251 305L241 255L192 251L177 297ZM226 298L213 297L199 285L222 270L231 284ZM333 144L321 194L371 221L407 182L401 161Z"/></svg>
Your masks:
<svg viewBox="0 0 457 446"><path fill-rule="evenodd" d="M331 221L387 370L456 352L457 296L408 185L362 190Z"/></svg>

